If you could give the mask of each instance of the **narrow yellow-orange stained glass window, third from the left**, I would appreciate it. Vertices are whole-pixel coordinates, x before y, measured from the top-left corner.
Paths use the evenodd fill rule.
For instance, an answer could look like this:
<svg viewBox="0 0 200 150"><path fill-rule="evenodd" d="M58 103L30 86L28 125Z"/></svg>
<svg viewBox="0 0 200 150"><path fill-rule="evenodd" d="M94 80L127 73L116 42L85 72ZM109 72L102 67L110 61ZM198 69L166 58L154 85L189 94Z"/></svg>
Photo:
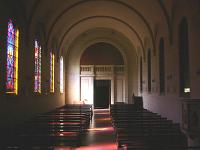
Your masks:
<svg viewBox="0 0 200 150"><path fill-rule="evenodd" d="M54 54L50 53L50 92L54 92Z"/></svg>

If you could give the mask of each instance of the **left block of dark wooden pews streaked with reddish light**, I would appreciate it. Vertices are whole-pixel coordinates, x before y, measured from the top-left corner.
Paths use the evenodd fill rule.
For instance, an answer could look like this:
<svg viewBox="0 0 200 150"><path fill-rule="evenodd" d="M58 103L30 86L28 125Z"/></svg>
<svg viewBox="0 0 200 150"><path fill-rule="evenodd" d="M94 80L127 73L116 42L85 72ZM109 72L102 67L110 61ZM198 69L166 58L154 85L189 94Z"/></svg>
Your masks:
<svg viewBox="0 0 200 150"><path fill-rule="evenodd" d="M92 118L91 105L65 105L16 127L4 148L78 146Z"/></svg>

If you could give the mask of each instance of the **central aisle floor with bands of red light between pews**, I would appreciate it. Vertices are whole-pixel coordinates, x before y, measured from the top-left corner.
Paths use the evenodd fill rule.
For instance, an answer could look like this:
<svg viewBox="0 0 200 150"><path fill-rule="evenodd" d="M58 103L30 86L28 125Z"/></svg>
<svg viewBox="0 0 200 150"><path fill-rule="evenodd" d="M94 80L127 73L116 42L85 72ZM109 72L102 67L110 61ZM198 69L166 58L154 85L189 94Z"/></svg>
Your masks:
<svg viewBox="0 0 200 150"><path fill-rule="evenodd" d="M109 109L94 109L90 128L76 150L117 150Z"/></svg>

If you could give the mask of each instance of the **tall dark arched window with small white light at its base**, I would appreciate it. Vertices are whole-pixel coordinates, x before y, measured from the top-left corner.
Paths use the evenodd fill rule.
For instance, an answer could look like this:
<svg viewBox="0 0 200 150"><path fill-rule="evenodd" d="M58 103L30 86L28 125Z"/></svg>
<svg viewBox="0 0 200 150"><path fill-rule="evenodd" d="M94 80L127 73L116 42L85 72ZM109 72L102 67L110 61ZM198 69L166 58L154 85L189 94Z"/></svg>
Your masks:
<svg viewBox="0 0 200 150"><path fill-rule="evenodd" d="M189 52L188 52L188 23L183 18L179 24L179 77L180 77L180 95L189 96Z"/></svg>

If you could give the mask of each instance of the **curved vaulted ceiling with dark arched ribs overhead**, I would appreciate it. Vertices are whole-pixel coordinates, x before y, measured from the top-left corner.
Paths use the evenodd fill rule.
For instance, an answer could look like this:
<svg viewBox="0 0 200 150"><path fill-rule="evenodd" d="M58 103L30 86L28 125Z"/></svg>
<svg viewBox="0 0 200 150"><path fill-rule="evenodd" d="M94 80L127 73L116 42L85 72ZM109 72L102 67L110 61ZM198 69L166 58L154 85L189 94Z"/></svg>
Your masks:
<svg viewBox="0 0 200 150"><path fill-rule="evenodd" d="M56 43L57 50L92 28L116 30L143 51L149 47L155 51L158 30L155 28L161 26L166 35L170 33L169 8L173 0L167 3L163 0L19 1L19 9L23 8L27 16L28 31L37 32L38 24L42 24L47 47ZM150 41L148 47L144 44L145 39Z"/></svg>

